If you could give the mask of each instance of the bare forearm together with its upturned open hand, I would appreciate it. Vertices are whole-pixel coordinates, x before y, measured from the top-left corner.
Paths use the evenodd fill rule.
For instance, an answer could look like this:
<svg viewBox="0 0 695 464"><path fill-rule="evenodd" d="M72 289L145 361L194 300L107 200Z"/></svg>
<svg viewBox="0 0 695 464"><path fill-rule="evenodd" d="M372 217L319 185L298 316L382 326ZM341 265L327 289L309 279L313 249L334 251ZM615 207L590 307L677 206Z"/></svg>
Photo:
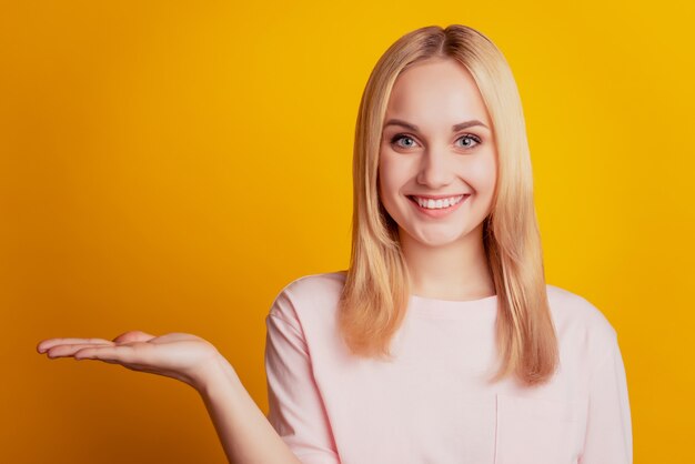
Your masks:
<svg viewBox="0 0 695 464"><path fill-rule="evenodd" d="M113 341L48 339L37 350L49 359L99 360L182 381L203 397L230 463L302 464L273 431L229 362L199 336L131 331Z"/></svg>

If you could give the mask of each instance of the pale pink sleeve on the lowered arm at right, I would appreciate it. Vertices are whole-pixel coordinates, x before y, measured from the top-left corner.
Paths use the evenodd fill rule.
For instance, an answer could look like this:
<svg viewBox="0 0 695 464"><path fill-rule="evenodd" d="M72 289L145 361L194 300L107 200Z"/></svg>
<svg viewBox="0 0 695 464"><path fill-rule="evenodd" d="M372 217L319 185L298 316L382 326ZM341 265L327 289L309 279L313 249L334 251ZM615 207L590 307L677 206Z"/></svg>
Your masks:
<svg viewBox="0 0 695 464"><path fill-rule="evenodd" d="M632 464L633 442L625 366L613 333L590 380L586 442L580 464Z"/></svg>

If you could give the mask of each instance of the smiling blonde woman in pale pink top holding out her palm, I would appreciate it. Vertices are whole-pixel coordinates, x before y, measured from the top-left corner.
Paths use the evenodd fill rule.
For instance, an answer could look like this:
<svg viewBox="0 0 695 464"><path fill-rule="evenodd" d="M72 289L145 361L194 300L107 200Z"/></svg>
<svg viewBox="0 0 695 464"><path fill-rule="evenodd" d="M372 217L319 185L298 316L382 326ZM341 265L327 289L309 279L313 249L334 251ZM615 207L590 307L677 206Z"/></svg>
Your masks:
<svg viewBox="0 0 695 464"><path fill-rule="evenodd" d="M350 268L266 317L265 417L208 342L128 332L39 352L195 387L234 463L632 463L616 332L545 283L521 100L464 26L399 39L364 91Z"/></svg>

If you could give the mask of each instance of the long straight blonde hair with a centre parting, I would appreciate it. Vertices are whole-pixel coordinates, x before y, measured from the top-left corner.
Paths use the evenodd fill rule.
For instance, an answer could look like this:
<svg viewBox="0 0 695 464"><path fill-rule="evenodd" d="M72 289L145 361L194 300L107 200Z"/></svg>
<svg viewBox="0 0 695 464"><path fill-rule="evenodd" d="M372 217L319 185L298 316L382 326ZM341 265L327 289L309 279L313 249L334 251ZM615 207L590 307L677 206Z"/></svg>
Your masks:
<svg viewBox="0 0 695 464"><path fill-rule="evenodd" d="M473 75L491 117L497 149L497 185L483 224L485 253L497 294L501 364L491 381L512 373L522 384L538 385L555 372L558 354L521 98L502 52L466 26L430 26L401 37L380 58L369 78L355 129L352 252L340 299L339 327L353 354L391 357L391 340L407 309L410 279L397 224L377 193L382 124L399 74L434 57L454 59Z"/></svg>

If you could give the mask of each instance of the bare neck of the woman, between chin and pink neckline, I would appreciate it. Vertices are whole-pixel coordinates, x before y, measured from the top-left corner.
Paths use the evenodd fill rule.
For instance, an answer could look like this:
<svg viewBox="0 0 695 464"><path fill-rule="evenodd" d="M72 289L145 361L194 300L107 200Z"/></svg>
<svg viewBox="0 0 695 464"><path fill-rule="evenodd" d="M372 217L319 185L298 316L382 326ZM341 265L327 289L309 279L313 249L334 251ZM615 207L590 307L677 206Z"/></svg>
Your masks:
<svg viewBox="0 0 695 464"><path fill-rule="evenodd" d="M400 231L411 293L437 300L477 300L495 294L482 224L461 240L429 246Z"/></svg>

